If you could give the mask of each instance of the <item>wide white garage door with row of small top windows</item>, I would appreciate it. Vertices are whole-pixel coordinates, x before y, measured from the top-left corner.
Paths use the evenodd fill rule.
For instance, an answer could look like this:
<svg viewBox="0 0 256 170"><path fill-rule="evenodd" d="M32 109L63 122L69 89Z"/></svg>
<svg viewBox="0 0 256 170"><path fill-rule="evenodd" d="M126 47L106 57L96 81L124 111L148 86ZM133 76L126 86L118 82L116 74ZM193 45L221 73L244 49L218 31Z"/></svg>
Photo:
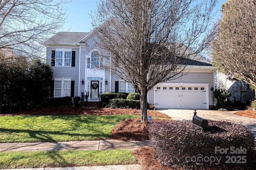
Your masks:
<svg viewBox="0 0 256 170"><path fill-rule="evenodd" d="M155 87L155 107L207 109L206 87Z"/></svg>

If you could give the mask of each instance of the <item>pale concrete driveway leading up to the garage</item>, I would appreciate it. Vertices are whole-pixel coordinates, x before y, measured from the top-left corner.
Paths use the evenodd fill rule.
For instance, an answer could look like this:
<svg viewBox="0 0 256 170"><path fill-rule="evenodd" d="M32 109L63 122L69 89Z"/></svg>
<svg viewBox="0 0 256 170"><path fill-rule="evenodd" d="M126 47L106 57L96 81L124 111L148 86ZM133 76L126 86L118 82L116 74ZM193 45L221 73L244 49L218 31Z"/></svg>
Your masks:
<svg viewBox="0 0 256 170"><path fill-rule="evenodd" d="M192 120L194 116L194 110L157 109L156 111L165 113L166 115L172 117L172 119L175 120ZM196 115L204 119L240 123L248 127L248 129L250 129L254 136L256 137L256 119L238 116L234 114L235 112L237 111L196 110Z"/></svg>

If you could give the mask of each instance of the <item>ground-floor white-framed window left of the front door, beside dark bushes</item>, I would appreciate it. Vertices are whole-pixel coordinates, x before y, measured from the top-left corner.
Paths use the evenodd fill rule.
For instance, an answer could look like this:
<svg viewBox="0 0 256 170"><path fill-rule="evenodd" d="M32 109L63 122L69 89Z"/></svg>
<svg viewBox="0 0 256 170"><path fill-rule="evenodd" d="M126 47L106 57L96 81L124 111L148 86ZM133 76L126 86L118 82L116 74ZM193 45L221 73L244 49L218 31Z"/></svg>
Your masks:
<svg viewBox="0 0 256 170"><path fill-rule="evenodd" d="M70 96L71 79L56 79L54 80L54 97Z"/></svg>

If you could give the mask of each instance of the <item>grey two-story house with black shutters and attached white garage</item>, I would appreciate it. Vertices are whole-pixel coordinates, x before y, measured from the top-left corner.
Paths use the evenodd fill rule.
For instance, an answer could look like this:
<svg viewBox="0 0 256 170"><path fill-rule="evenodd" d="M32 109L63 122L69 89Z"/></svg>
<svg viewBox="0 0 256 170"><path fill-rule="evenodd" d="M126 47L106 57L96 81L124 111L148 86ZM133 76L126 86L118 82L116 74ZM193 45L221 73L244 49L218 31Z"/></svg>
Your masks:
<svg viewBox="0 0 256 170"><path fill-rule="evenodd" d="M45 42L46 59L52 64L54 80L51 97L82 97L99 101L104 92L135 92L127 83L109 71L98 70L103 60L94 44L94 31L59 32ZM214 106L212 91L215 67L197 56L186 74L156 85L148 93L148 103L156 108L209 109Z"/></svg>

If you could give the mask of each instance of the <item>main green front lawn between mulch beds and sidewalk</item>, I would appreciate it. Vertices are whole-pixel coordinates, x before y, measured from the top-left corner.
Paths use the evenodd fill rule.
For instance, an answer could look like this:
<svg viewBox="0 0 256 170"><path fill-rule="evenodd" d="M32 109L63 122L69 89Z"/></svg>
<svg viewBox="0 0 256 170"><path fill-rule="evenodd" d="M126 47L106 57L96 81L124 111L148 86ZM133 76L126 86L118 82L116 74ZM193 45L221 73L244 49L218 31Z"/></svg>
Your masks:
<svg viewBox="0 0 256 170"><path fill-rule="evenodd" d="M136 115L2 116L0 142L62 142L110 137L112 128Z"/></svg>

